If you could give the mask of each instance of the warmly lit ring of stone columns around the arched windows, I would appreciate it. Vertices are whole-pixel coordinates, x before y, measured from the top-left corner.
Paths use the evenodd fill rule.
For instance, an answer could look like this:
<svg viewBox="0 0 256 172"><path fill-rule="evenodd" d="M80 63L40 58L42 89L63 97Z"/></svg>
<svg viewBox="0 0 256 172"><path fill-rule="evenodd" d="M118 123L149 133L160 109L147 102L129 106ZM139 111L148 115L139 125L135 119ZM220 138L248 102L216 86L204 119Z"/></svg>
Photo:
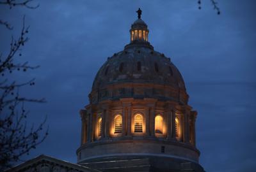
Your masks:
<svg viewBox="0 0 256 172"><path fill-rule="evenodd" d="M155 106L150 105L139 109L140 110L132 106L131 103L124 103L119 113L116 113L118 110L111 110L109 107L101 108L100 113L92 110L92 108L81 110L81 144L83 145L84 143L109 138L143 136L145 138L150 137L170 141L181 141L195 146L196 111L191 111L189 108L183 108L183 110L180 111L169 107L164 108L162 113L159 113ZM134 132L134 115L136 114L140 114L143 117L143 132L141 133ZM122 133L114 133L116 115L122 116ZM161 134L155 133L156 115L163 117L164 131ZM101 122L100 136L97 135L97 127L99 126L99 124L97 124L98 118L100 118ZM175 119L179 121L179 124L175 122ZM177 131L176 127L178 127Z"/></svg>

